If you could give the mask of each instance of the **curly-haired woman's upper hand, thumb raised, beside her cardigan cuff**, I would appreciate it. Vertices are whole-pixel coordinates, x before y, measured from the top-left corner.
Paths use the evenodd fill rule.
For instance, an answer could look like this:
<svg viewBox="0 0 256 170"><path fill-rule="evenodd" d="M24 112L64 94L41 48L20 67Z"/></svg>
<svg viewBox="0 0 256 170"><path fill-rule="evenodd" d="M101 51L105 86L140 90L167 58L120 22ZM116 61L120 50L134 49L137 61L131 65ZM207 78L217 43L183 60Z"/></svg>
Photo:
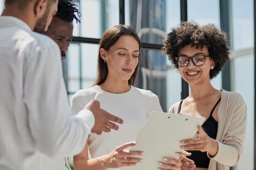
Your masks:
<svg viewBox="0 0 256 170"><path fill-rule="evenodd" d="M198 134L192 139L180 141L184 150L200 150L201 152L208 152L209 155L214 157L218 153L218 142L212 139L204 132L201 126L198 126Z"/></svg>

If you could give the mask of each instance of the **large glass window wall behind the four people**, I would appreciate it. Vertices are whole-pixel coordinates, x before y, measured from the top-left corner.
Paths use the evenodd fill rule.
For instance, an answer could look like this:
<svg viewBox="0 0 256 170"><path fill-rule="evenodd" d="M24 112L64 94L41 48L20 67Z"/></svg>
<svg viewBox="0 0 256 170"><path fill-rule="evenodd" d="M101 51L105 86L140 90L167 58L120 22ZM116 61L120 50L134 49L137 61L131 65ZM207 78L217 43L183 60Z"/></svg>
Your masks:
<svg viewBox="0 0 256 170"><path fill-rule="evenodd" d="M187 0L188 21L220 28L220 2ZM181 76L161 54L162 39L180 23L180 0L74 0L79 5L81 24L74 22L74 39L63 61L63 76L69 99L79 89L89 88L97 76L99 40L106 29L117 24L131 25L142 42L142 59L136 86L159 96L164 111L181 99ZM119 7L124 2L124 11ZM254 8L253 0L229 0L229 43L231 46L231 89L247 103L248 126L236 170L254 167ZM228 7L227 7L228 8ZM0 11L4 0L0 0ZM229 9L225 9L229 10ZM124 16L124 21L120 19ZM225 79L225 78L224 78ZM222 88L222 73L211 80ZM225 83L225 82L224 82Z"/></svg>

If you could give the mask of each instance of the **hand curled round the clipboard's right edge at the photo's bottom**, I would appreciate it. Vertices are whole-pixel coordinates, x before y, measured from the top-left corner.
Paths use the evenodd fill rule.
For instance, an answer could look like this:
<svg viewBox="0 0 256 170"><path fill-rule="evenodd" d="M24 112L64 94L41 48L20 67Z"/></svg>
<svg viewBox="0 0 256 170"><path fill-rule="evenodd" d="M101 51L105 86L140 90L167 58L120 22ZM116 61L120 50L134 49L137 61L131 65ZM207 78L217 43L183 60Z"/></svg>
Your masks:
<svg viewBox="0 0 256 170"><path fill-rule="evenodd" d="M164 168L159 168L159 170L180 170L182 169L182 167L186 168L186 167L189 167L187 165L183 165L183 162L182 160L183 159L186 159L186 156L190 156L191 153L188 153L188 152L184 152L184 153L177 153L178 156L180 156L180 158L178 160L175 160L175 159L171 159L171 158L164 158L163 162L159 162L159 165L160 166L163 166ZM190 160L190 159L188 159ZM192 160L191 160L192 161ZM189 161L189 162L191 162ZM193 167L193 165L192 165ZM184 169L184 170L187 170L187 169ZM190 169L188 169L190 170Z"/></svg>

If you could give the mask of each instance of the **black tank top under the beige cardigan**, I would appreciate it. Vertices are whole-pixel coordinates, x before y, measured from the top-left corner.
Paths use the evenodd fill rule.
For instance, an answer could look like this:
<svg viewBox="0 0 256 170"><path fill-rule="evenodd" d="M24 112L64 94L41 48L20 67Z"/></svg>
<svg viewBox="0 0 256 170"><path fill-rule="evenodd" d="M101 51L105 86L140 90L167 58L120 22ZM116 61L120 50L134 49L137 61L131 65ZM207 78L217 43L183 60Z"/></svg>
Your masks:
<svg viewBox="0 0 256 170"><path fill-rule="evenodd" d="M178 113L180 113L180 108L182 105L183 100L180 102ZM205 133L213 139L216 139L217 131L218 131L218 122L212 117L212 113L218 103L220 102L220 99L216 103L216 105L211 110L211 114L209 118L202 124L202 129L204 129ZM195 161L195 165L198 168L208 168L210 163L210 158L207 156L207 152L201 152L199 150L189 150L189 153L192 153L191 156L188 156L187 158Z"/></svg>

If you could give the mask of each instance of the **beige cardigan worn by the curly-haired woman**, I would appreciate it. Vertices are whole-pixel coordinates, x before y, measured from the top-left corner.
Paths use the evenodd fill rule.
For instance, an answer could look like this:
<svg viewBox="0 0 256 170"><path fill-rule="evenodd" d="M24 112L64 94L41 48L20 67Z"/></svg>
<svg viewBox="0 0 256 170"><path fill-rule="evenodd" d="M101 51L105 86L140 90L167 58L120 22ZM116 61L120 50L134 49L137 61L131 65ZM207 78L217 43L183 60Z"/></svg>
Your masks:
<svg viewBox="0 0 256 170"><path fill-rule="evenodd" d="M180 102L169 109L177 113ZM247 128L247 106L243 97L237 92L227 92L222 89L218 108L218 153L211 159L209 170L229 170L234 166L243 153L243 142Z"/></svg>

